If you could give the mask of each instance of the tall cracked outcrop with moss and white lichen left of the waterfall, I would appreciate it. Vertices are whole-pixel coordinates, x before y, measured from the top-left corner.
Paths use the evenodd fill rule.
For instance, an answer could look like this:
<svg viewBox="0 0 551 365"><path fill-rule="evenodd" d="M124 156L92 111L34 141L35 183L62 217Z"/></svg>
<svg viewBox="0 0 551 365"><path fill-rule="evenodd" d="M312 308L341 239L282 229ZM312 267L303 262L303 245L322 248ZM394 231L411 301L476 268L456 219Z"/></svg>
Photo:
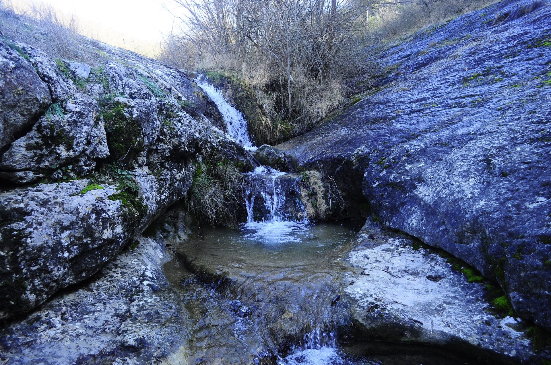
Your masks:
<svg viewBox="0 0 551 365"><path fill-rule="evenodd" d="M6 51L14 75L28 73L28 86L46 97L32 94L17 122L27 130L0 151L4 181L38 183L0 193L0 318L98 272L186 196L202 153L244 155L201 109L195 118L182 109L197 98L187 71L106 45L94 68L12 47L25 56ZM3 118L12 114L3 109Z"/></svg>

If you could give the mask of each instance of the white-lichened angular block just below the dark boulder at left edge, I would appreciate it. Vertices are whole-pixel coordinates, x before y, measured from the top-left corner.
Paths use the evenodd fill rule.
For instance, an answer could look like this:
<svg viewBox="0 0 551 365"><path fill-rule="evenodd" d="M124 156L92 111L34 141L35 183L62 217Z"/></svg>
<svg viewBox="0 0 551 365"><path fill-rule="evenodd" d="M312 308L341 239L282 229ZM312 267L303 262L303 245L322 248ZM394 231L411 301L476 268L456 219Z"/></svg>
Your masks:
<svg viewBox="0 0 551 365"><path fill-rule="evenodd" d="M78 93L63 106L67 114L44 115L32 131L12 143L2 156L0 176L17 184L45 176L84 176L93 172L97 159L109 156L104 125L97 121L98 102Z"/></svg>

